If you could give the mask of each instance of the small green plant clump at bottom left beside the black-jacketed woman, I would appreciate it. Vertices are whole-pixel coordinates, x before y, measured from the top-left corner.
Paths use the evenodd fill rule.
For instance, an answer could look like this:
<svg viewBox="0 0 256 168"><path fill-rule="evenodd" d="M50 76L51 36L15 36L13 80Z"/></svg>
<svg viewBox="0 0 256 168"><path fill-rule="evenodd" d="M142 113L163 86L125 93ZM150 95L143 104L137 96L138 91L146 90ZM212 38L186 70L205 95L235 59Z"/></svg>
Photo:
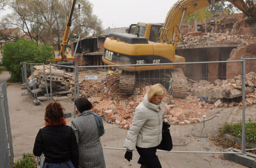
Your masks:
<svg viewBox="0 0 256 168"><path fill-rule="evenodd" d="M20 159L14 168L36 168L36 157L31 153L24 153L23 158Z"/></svg>

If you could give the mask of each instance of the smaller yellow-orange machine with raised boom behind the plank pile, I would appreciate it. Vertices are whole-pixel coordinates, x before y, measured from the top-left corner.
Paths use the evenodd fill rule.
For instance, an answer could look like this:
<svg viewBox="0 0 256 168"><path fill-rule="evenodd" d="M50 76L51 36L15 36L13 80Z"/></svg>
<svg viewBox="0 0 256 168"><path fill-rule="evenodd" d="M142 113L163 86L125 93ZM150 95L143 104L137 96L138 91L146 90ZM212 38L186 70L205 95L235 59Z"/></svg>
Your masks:
<svg viewBox="0 0 256 168"><path fill-rule="evenodd" d="M60 47L60 51L53 51L53 60L56 61L56 64L60 64L60 65L74 65L74 57L67 57L65 55L65 48L67 45L67 40L68 40L68 33L70 30L70 26L71 26L71 20L72 20L72 15L74 12L74 8L75 8L75 4L76 4L76 0L72 1L71 4L71 8L70 8L70 12L68 15L68 20L66 21L66 28L65 28L65 32L64 32L64 37L61 43L61 47ZM70 71L72 71L73 68L70 68Z"/></svg>

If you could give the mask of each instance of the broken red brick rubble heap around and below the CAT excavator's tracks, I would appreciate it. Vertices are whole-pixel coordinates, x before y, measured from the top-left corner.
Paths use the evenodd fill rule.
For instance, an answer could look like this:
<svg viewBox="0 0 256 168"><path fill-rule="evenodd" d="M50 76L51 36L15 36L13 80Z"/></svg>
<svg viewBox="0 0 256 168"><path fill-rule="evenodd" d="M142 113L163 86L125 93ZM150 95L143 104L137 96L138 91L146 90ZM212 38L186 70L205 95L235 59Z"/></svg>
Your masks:
<svg viewBox="0 0 256 168"><path fill-rule="evenodd" d="M80 93L89 98L94 106L93 111L107 122L129 129L135 107L142 102L150 86L141 90L136 88L135 94L124 96L119 93L119 76L116 72L108 75L106 80L84 80L79 84ZM208 111L214 108L214 104L201 102L200 98L192 94L183 100L167 94L163 102L164 120L172 125L202 122Z"/></svg>

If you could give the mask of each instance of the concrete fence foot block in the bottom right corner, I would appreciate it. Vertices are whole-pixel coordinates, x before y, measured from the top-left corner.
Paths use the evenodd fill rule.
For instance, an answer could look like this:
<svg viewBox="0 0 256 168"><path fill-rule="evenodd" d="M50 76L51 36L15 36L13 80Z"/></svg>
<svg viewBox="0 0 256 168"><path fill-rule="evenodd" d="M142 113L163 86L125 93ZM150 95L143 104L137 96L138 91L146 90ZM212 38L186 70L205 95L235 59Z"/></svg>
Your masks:
<svg viewBox="0 0 256 168"><path fill-rule="evenodd" d="M236 148L228 148L225 150L226 152L241 152L241 150ZM223 154L225 159L232 160L239 164L243 164L250 168L256 168L256 154L246 153L242 154Z"/></svg>

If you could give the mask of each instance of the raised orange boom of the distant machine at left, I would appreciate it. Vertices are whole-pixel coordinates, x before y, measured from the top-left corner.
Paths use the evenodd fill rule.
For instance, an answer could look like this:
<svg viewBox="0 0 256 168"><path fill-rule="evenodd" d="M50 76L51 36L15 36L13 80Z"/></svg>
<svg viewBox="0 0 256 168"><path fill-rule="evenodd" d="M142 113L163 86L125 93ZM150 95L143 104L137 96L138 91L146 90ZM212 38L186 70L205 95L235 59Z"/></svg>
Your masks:
<svg viewBox="0 0 256 168"><path fill-rule="evenodd" d="M63 37L63 40L62 40L62 43L61 43L60 55L62 57L62 61L66 61L65 47L67 45L68 33L69 33L69 30L70 30L70 26L71 26L71 20L72 20L72 15L73 15L73 12L74 12L75 4L76 4L76 0L73 0L72 4L71 4L69 15L68 15L68 20L66 22L64 37Z"/></svg>

